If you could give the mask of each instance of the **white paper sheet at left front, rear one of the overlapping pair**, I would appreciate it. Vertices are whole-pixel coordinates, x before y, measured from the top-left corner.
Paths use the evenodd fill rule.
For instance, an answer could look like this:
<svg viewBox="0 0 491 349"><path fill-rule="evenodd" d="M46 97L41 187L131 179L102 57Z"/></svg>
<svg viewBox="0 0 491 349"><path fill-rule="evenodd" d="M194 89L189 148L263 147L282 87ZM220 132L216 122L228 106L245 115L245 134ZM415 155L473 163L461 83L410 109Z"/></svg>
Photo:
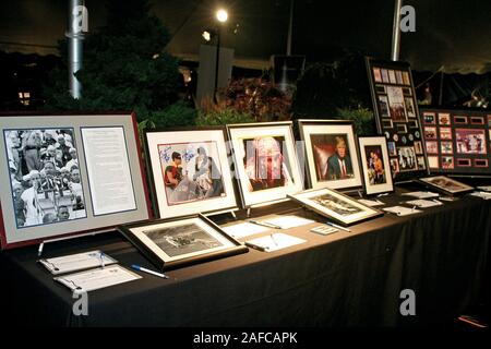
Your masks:
<svg viewBox="0 0 491 349"><path fill-rule="evenodd" d="M117 263L115 258L111 258L101 251L89 251L77 254L64 255L61 257L39 260L52 275L60 275L64 273L72 273L76 270L89 269L104 265L110 265Z"/></svg>

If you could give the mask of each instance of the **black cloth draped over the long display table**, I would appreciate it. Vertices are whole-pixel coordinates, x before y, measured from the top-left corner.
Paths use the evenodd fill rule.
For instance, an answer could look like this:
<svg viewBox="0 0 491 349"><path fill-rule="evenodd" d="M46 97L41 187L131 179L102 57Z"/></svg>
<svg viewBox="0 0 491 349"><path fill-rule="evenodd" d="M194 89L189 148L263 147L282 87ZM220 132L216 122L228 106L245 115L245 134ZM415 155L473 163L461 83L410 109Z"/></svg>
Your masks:
<svg viewBox="0 0 491 349"><path fill-rule="evenodd" d="M397 194L387 205L408 200ZM292 203L253 215L294 212ZM224 217L217 217L224 222ZM444 324L484 290L491 231L489 201L466 195L423 213L381 218L324 237L319 224L285 230L308 242L249 253L88 293L88 316L38 263L37 246L1 252L2 314L41 326L412 326ZM47 229L49 229L47 227ZM154 268L122 236L109 232L46 245L44 257L100 249L122 266ZM400 291L416 294L416 316L399 312ZM7 317L8 316L8 317Z"/></svg>

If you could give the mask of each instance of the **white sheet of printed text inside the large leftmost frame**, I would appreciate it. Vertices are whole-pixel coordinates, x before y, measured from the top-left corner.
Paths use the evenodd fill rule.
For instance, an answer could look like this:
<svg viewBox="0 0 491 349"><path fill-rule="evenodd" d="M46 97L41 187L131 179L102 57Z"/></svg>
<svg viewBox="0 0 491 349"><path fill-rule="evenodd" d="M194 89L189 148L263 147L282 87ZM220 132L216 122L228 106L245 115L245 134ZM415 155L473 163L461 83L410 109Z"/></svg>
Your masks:
<svg viewBox="0 0 491 349"><path fill-rule="evenodd" d="M136 209L123 128L82 129L94 214Z"/></svg>

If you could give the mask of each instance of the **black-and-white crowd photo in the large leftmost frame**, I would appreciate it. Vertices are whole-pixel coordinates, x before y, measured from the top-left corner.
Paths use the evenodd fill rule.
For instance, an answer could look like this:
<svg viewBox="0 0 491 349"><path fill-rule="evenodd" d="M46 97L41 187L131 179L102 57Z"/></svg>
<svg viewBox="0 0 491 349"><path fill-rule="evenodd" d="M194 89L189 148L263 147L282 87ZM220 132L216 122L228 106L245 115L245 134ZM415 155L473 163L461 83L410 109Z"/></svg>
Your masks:
<svg viewBox="0 0 491 349"><path fill-rule="evenodd" d="M73 129L3 132L16 227L86 218Z"/></svg>

